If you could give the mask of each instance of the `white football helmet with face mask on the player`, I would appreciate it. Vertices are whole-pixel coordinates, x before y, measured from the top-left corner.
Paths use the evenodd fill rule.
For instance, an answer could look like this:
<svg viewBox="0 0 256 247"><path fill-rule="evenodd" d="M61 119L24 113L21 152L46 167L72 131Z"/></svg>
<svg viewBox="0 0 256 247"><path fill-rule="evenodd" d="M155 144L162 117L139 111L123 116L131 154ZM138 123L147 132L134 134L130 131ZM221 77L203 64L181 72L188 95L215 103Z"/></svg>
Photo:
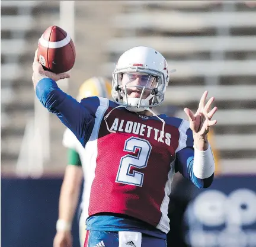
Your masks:
<svg viewBox="0 0 256 247"><path fill-rule="evenodd" d="M124 52L117 62L112 97L127 110L143 111L164 101L168 82L169 71L164 56L150 47L134 47ZM133 97L127 97L127 92Z"/></svg>

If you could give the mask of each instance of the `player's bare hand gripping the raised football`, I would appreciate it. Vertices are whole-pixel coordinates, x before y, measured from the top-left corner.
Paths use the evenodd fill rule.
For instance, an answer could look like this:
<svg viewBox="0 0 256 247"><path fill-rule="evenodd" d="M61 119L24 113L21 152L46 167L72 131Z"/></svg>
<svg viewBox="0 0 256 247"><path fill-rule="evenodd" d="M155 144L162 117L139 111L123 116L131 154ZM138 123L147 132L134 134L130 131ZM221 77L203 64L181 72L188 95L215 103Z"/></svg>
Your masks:
<svg viewBox="0 0 256 247"><path fill-rule="evenodd" d="M36 50L35 56L34 56L34 62L33 62L33 75L32 75L34 88L36 88L36 85L38 84L38 82L43 78L50 78L50 79L53 79L53 81L59 81L60 79L70 78L70 75L69 73L56 74L56 73L44 70L43 66L41 66L39 63L38 50Z"/></svg>

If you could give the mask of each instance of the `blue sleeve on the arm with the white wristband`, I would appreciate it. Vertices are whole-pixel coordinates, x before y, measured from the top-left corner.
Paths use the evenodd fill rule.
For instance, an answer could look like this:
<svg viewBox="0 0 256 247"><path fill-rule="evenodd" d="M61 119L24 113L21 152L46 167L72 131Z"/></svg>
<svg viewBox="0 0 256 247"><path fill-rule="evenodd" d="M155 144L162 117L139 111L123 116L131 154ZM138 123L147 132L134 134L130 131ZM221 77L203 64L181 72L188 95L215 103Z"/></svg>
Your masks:
<svg viewBox="0 0 256 247"><path fill-rule="evenodd" d="M175 172L180 172L183 177L190 179L197 188L208 188L213 182L213 177L209 178L197 178L193 172L194 165L194 140L191 129L188 129L187 132L187 143L184 149L181 149L176 153L175 160Z"/></svg>

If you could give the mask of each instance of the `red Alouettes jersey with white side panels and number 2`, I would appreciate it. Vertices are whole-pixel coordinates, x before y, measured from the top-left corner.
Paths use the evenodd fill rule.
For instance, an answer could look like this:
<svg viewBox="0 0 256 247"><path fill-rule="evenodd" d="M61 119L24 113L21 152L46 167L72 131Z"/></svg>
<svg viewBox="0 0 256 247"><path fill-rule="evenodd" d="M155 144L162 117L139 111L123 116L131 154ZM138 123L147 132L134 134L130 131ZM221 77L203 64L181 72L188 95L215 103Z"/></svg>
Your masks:
<svg viewBox="0 0 256 247"><path fill-rule="evenodd" d="M186 147L188 121L160 116L166 124L159 139L163 123L157 117L140 116L126 108L113 110L117 104L99 99L85 145L84 210L88 208L88 216L126 214L167 233L175 154Z"/></svg>

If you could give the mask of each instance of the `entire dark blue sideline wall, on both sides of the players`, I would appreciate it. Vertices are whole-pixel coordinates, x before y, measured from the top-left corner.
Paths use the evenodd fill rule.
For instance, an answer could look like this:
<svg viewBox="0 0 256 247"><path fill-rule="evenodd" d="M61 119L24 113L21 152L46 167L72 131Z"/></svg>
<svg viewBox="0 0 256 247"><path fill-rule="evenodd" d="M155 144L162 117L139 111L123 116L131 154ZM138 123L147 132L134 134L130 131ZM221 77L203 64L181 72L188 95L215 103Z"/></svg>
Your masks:
<svg viewBox="0 0 256 247"><path fill-rule="evenodd" d="M62 178L1 179L1 246L53 246ZM256 246L256 176L215 178L196 190L185 222L191 247ZM73 247L79 247L77 214Z"/></svg>

